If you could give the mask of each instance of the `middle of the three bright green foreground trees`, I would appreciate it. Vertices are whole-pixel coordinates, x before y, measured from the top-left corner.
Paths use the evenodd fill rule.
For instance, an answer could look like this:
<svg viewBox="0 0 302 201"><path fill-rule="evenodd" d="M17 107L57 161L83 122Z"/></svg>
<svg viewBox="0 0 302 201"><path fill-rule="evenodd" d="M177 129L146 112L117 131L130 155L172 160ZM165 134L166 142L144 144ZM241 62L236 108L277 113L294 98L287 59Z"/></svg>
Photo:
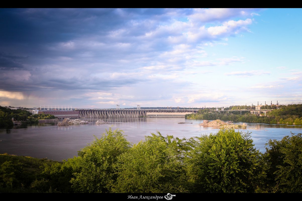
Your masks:
<svg viewBox="0 0 302 201"><path fill-rule="evenodd" d="M114 192L189 192L183 160L190 144L159 132L151 134L120 156Z"/></svg>

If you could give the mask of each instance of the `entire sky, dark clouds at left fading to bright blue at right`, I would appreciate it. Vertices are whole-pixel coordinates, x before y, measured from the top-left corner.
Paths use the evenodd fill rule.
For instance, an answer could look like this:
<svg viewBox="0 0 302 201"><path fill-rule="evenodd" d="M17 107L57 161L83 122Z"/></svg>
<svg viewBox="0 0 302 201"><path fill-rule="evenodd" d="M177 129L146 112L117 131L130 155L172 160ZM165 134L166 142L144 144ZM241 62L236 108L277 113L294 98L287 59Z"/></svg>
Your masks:
<svg viewBox="0 0 302 201"><path fill-rule="evenodd" d="M302 9L0 9L0 105L302 104Z"/></svg>

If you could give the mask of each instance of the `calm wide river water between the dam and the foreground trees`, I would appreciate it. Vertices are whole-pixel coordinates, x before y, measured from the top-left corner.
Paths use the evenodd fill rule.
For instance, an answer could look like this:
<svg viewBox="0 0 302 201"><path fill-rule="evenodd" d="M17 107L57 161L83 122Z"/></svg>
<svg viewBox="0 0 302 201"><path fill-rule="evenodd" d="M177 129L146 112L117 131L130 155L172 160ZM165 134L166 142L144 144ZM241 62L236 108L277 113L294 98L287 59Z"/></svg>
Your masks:
<svg viewBox="0 0 302 201"><path fill-rule="evenodd" d="M217 133L219 129L203 127L203 120L187 120L185 118L108 118L102 119L109 124L95 124L97 118L83 119L91 123L84 125L57 126L57 123L39 123L31 126L15 126L13 129L0 129L0 154L8 153L34 158L48 158L55 161L77 156L77 151L98 138L113 125L112 129L121 129L132 143L138 143L159 131L163 136L172 135L178 138L190 138L204 134ZM184 124L178 124L185 122ZM234 122L242 124L243 122ZM235 129L238 130L238 129ZM265 152L265 143L269 139L281 140L292 133L301 133L302 126L247 123L255 148Z"/></svg>

